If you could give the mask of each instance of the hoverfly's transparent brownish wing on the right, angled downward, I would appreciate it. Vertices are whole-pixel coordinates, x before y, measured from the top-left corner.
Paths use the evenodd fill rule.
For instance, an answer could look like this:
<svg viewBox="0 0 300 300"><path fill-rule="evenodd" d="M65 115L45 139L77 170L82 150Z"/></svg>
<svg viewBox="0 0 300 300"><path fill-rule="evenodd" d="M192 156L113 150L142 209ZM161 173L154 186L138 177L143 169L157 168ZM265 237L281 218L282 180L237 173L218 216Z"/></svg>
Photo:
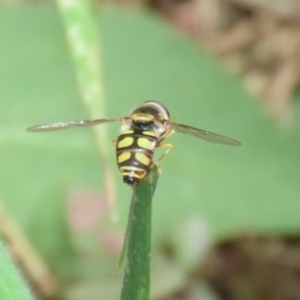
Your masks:
<svg viewBox="0 0 300 300"><path fill-rule="evenodd" d="M186 133L211 143L231 145L231 146L242 145L240 142L228 138L226 136L205 131L199 128L190 127L183 124L171 123L171 128L177 132Z"/></svg>

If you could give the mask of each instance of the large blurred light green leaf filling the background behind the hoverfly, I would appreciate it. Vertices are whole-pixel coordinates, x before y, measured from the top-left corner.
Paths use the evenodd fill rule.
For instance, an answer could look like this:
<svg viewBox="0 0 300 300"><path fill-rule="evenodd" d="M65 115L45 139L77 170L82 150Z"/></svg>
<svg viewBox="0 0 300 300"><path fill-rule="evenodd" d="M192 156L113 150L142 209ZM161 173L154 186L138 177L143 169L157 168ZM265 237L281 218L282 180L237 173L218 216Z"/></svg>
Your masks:
<svg viewBox="0 0 300 300"><path fill-rule="evenodd" d="M156 99L175 121L243 144L218 146L180 134L170 139L175 147L161 164L153 203L154 242L195 214L214 238L298 231L296 133L279 132L239 79L150 13L102 9L99 26L110 117ZM73 187L101 190L103 173L90 129L25 132L38 123L88 117L58 12L46 5L1 7L0 43L0 197L40 249L55 243L66 257L72 251L65 238L65 206L56 200L63 202ZM118 124L109 128L113 140ZM131 190L121 178L117 193L125 225ZM44 220L38 218L41 211ZM55 239L48 239L50 234Z"/></svg>

